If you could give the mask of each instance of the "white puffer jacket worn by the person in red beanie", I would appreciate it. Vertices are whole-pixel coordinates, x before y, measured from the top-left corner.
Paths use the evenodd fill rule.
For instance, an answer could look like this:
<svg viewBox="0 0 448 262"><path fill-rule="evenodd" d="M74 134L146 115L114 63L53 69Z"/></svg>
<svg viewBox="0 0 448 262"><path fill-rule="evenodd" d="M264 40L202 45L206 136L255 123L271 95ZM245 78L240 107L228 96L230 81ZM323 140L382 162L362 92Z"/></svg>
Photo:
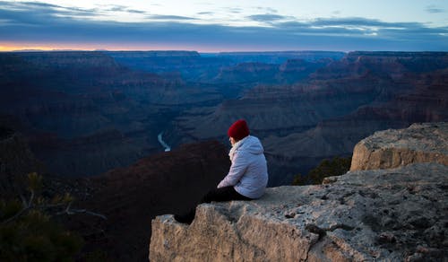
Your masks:
<svg viewBox="0 0 448 262"><path fill-rule="evenodd" d="M263 152L262 143L252 135L234 144L228 153L232 165L218 188L234 186L243 196L253 199L263 196L268 184L268 169Z"/></svg>

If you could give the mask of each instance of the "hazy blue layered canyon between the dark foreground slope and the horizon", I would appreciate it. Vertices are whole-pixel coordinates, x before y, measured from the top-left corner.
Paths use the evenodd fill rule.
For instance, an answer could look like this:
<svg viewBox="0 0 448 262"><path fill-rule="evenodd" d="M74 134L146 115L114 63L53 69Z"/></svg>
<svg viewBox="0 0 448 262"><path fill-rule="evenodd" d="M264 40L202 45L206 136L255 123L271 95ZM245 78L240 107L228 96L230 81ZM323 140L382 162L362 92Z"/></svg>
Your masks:
<svg viewBox="0 0 448 262"><path fill-rule="evenodd" d="M0 126L20 131L47 171L99 175L171 148L227 144L246 118L270 186L366 135L445 121L444 52L24 52L0 56Z"/></svg>

